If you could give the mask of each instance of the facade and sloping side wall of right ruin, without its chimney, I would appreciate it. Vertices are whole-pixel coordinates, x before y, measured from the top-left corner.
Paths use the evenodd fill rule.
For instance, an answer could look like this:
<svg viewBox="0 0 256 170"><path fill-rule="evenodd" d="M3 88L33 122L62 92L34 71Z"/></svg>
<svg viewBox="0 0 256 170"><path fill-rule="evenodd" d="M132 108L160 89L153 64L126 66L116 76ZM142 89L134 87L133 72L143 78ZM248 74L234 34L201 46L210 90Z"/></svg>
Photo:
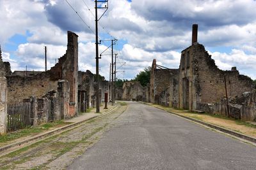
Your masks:
<svg viewBox="0 0 256 170"><path fill-rule="evenodd" d="M231 71L218 69L203 45L194 43L182 51L179 75L179 108L194 110L196 103L214 103L225 96L225 79L228 97L241 96L253 89L253 81Z"/></svg>

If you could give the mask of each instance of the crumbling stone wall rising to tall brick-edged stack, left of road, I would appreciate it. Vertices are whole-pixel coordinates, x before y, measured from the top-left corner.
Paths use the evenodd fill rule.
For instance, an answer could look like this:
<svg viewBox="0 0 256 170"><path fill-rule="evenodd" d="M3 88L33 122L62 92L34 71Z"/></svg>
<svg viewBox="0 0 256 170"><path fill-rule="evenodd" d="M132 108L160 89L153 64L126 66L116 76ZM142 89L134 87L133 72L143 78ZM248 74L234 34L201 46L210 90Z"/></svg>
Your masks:
<svg viewBox="0 0 256 170"><path fill-rule="evenodd" d="M51 90L58 90L58 80L67 80L69 87L68 116L77 113L78 100L78 44L77 35L68 31L67 52L58 59L58 63L47 72L36 74L19 71L15 75L6 76L8 80L8 102L20 102L31 96L42 97ZM67 110L67 109L65 109Z"/></svg>

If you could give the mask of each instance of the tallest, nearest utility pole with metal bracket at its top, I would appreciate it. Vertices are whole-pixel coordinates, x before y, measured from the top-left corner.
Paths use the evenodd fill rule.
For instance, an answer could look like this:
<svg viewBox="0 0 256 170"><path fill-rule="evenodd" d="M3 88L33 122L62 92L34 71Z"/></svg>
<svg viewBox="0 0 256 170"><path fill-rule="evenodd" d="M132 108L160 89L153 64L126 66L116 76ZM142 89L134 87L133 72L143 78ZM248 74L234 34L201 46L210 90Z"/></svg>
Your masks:
<svg viewBox="0 0 256 170"><path fill-rule="evenodd" d="M98 3L107 3L103 7L98 7ZM95 0L95 45L96 45L96 113L100 112L100 96L99 96L99 35L98 35L98 21L104 15L104 13L98 19L98 8L106 9L104 13L108 10L108 0L98 1Z"/></svg>

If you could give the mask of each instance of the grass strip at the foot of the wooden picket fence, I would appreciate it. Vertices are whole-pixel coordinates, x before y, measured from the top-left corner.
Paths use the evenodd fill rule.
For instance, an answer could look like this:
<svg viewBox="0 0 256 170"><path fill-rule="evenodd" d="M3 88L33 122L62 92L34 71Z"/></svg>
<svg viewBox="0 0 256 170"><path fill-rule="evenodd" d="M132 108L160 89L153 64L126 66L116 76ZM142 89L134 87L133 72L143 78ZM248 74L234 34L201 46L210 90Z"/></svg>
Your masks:
<svg viewBox="0 0 256 170"><path fill-rule="evenodd" d="M56 122L49 122L47 124L39 125L38 127L29 127L26 129L21 129L16 132L10 132L8 134L4 134L0 136L0 143L7 143L9 141L13 141L15 139L22 138L25 136L36 135L40 132L47 131L52 127L60 127L67 124L70 124L70 123L63 122L62 120L58 120Z"/></svg>

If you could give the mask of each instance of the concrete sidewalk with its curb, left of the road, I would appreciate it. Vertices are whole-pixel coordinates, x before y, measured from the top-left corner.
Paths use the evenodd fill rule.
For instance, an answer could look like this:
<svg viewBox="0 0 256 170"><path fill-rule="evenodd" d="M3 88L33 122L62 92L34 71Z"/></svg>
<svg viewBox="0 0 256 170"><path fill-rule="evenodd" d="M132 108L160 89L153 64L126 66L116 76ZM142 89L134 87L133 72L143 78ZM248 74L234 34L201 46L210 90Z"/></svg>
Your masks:
<svg viewBox="0 0 256 170"><path fill-rule="evenodd" d="M115 108L116 106L111 106L110 103L108 104L108 109L104 109L104 106L100 106L100 113L95 113L96 109L93 108L92 110L90 110L89 113L83 113L82 115L78 115L77 117L73 117L68 120L63 120L63 122L70 123L68 125L63 125L61 127L52 127L48 131L40 132L39 134L36 134L34 136L24 136L22 138L17 138L12 141L9 141L8 143L6 143L6 145L4 143L0 147L0 156L18 150L19 148L22 148L24 146L36 143L37 141L40 141L54 134L67 131L68 129L74 128L77 125L83 124L84 122L87 122L93 118L98 118L107 115L111 111L115 110Z"/></svg>

